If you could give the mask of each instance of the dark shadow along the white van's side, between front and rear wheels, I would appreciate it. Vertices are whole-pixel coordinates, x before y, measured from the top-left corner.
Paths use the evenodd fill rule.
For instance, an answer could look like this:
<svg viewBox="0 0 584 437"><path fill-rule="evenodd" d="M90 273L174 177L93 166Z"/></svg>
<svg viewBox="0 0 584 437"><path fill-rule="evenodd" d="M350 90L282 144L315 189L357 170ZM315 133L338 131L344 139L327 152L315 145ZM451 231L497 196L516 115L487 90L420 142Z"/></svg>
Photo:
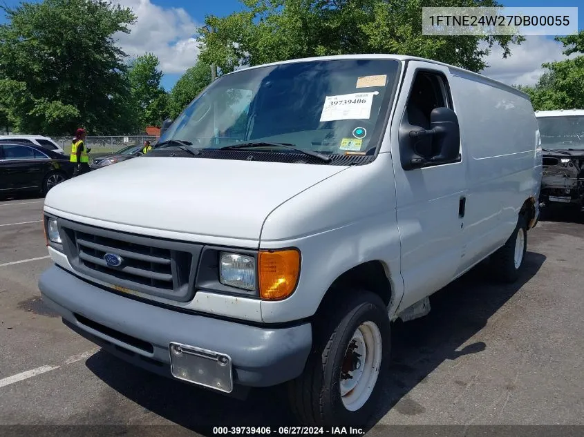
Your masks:
<svg viewBox="0 0 584 437"><path fill-rule="evenodd" d="M424 407L406 396L409 391L423 383L442 362L488 349L489 344L484 342L462 345L538 273L545 259L545 255L528 251L520 278L514 284L489 280L489 262L482 262L432 295L431 311L426 317L395 323L393 360L375 423L393 408L407 416L422 414Z"/></svg>

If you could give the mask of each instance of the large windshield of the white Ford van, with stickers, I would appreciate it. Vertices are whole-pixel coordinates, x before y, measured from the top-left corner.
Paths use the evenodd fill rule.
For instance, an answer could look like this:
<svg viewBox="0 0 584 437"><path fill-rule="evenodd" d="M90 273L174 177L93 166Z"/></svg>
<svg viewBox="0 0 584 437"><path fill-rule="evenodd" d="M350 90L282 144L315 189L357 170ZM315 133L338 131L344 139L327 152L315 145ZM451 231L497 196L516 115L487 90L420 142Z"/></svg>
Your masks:
<svg viewBox="0 0 584 437"><path fill-rule="evenodd" d="M398 72L399 63L392 59L302 61L239 70L219 77L192 101L160 143L176 139L218 149L272 142L327 155L373 155Z"/></svg>

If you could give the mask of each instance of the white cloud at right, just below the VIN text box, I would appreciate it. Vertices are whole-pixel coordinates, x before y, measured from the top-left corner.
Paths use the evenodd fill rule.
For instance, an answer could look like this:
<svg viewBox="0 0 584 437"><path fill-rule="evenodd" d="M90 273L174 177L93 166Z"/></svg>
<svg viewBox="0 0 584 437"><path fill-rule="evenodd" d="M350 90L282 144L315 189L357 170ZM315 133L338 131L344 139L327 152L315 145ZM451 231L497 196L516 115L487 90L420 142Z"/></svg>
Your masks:
<svg viewBox="0 0 584 437"><path fill-rule="evenodd" d="M511 46L507 59L503 59L500 46L493 46L486 58L489 67L482 74L509 85L534 85L545 72L541 64L567 59L562 50L561 43L540 36L527 36L519 46Z"/></svg>

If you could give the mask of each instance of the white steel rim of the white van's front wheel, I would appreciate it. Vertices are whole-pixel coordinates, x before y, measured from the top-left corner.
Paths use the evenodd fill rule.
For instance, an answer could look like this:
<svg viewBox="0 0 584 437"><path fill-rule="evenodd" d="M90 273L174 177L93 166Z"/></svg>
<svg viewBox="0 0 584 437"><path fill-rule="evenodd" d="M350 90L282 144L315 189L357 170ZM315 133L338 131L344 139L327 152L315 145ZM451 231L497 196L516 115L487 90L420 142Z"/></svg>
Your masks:
<svg viewBox="0 0 584 437"><path fill-rule="evenodd" d="M359 356L355 356L355 353ZM349 411L357 411L375 389L382 362L382 334L374 322L363 322L355 330L343 358L339 391L341 401ZM352 362L350 370L348 363ZM351 376L352 378L348 378Z"/></svg>

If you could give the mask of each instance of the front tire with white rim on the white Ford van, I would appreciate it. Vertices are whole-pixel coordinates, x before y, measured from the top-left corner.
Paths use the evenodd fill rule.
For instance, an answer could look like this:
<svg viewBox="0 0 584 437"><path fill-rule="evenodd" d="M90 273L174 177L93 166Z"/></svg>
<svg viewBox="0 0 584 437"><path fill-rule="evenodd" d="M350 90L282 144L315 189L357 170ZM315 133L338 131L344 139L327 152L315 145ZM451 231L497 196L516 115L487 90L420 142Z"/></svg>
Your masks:
<svg viewBox="0 0 584 437"><path fill-rule="evenodd" d="M294 415L306 426L364 426L375 412L390 357L390 322L384 302L370 291L350 291L332 300L325 313L317 313L312 331L313 346L304 372L288 384ZM350 371L360 376L351 380L341 377L341 371L343 363L348 365L346 353L356 336L361 336L355 340L357 352L365 359ZM364 350L368 353L363 354ZM351 382L357 384L353 389L347 387ZM347 389L350 395L343 398L341 390ZM359 396L361 389L370 392L368 398Z"/></svg>

